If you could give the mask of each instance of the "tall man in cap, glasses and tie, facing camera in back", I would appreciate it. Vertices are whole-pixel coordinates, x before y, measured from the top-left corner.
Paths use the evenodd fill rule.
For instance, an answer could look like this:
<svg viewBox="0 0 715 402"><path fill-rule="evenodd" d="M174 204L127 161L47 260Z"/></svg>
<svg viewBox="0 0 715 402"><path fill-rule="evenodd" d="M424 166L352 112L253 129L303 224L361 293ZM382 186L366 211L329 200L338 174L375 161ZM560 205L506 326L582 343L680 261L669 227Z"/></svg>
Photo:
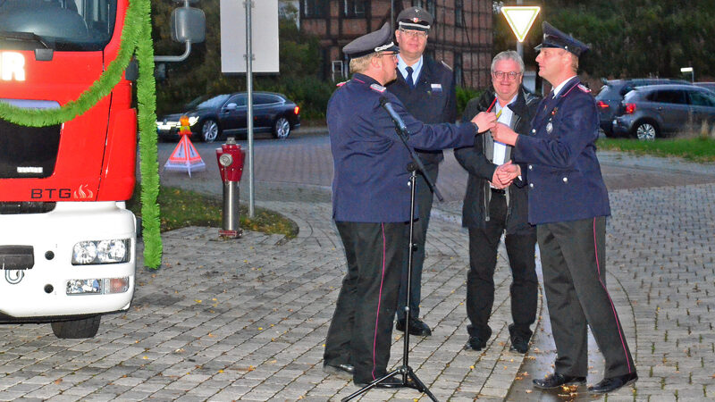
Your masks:
<svg viewBox="0 0 715 402"><path fill-rule="evenodd" d="M454 89L452 71L443 63L435 62L425 55L427 37L433 17L419 7L409 7L397 16L398 29L395 38L400 46L398 55L397 80L387 86L405 105L408 113L426 124L454 122L457 119L457 96ZM433 183L437 182L442 150L418 149L426 174ZM425 238L432 211L433 192L423 174L417 175L416 205L419 218L415 222L413 243L416 250L412 255L412 283L409 289L409 322L406 322L405 298L407 297L408 255L405 255L400 297L398 298L398 331L408 327L412 335L429 336L430 327L419 319L419 302L422 290L422 266L425 263ZM406 232L409 236L409 232ZM406 253L407 254L407 253Z"/></svg>

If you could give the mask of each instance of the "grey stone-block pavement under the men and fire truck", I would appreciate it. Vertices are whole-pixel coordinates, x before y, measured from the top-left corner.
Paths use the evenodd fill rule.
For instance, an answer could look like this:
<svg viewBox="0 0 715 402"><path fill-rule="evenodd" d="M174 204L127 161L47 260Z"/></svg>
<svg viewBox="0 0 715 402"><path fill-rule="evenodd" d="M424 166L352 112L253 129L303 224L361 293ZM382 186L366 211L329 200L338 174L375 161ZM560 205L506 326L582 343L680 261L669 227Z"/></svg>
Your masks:
<svg viewBox="0 0 715 402"><path fill-rule="evenodd" d="M290 168L295 158L282 163ZM299 159L320 164L309 155ZM610 192L608 285L640 380L608 400L715 399L715 169L615 153L601 159L604 174L609 161L615 170L650 170L635 176L622 171L624 183L650 175L662 185L650 187L649 181ZM273 174L302 174L288 171ZM217 194L220 185L211 184L209 173L206 180L186 180L172 172L163 180ZM297 222L298 238L247 232L243 239L221 240L215 228L196 227L165 233L162 268L138 270L130 311L105 316L95 339L55 339L49 325L0 326L0 400L322 401L357 390L322 372L344 255L330 222L324 170L311 174L322 179L299 188L292 179L257 181L257 205ZM459 228L459 186L449 177L441 178L450 202L434 212L423 279L422 311L433 336L411 337L410 365L417 376L439 400L605 400L586 396L584 387L572 394L531 388L534 375L551 371L548 312L540 297L531 351L509 352L503 245L494 334L482 353L462 350L467 233ZM674 181L661 183L659 177ZM399 364L402 342L399 332L394 335L391 363ZM591 351L589 383L602 373L595 346ZM372 389L361 398L387 399L427 400L414 389Z"/></svg>

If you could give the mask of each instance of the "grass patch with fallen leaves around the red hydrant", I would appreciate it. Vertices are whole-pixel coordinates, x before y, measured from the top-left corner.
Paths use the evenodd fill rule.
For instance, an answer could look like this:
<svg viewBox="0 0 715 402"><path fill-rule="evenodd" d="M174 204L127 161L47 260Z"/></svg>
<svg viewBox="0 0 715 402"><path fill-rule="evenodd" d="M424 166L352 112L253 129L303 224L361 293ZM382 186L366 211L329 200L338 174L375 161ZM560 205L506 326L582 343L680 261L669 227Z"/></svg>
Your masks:
<svg viewBox="0 0 715 402"><path fill-rule="evenodd" d="M187 226L221 227L223 202L220 197L206 196L196 191L162 186L158 203L161 207L161 230L180 229ZM127 208L141 216L139 185L127 201ZM248 206L240 205L240 227L243 230L282 234L290 239L298 234L298 226L281 214L264 208L255 208L255 217L248 218Z"/></svg>

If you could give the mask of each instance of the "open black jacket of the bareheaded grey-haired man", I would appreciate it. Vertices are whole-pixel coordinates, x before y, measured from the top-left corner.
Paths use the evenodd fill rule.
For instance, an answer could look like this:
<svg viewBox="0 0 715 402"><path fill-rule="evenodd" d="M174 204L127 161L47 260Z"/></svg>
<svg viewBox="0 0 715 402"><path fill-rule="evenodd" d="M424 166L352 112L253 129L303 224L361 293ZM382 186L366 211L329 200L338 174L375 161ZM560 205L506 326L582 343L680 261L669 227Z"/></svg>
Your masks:
<svg viewBox="0 0 715 402"><path fill-rule="evenodd" d="M492 105L494 98L494 91L490 89L484 91L484 95L479 99L470 100L462 120L469 121L477 113L485 112ZM517 100L508 106L514 113L511 127L517 133L531 134L531 119L536 113L540 99L539 96L527 93L523 87L519 88ZM497 165L492 163L491 152L484 152L487 148L493 149L493 140L489 133L477 137L474 147L463 147L454 151L458 163L469 172L467 193L462 206L462 226L465 227L484 228L485 222L489 221L489 202L492 198L489 181L492 180ZM510 147L508 147L508 152L509 149ZM487 157L486 154L490 154L490 157ZM509 156L506 160L509 160ZM522 170L524 169L526 166L522 166ZM509 186L508 191L507 233L532 229L533 226L529 224L527 214L528 189L517 179L515 185Z"/></svg>

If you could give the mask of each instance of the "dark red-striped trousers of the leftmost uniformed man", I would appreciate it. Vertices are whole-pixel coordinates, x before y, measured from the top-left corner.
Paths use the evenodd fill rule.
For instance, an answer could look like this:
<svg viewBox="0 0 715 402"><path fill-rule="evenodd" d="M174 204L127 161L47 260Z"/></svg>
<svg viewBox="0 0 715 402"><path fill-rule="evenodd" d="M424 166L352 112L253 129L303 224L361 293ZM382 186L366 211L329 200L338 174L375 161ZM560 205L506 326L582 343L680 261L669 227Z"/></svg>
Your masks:
<svg viewBox="0 0 715 402"><path fill-rule="evenodd" d="M324 364L353 364L356 383L387 373L405 223L335 222L348 273L325 340Z"/></svg>

